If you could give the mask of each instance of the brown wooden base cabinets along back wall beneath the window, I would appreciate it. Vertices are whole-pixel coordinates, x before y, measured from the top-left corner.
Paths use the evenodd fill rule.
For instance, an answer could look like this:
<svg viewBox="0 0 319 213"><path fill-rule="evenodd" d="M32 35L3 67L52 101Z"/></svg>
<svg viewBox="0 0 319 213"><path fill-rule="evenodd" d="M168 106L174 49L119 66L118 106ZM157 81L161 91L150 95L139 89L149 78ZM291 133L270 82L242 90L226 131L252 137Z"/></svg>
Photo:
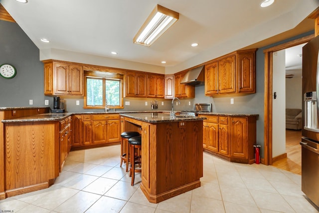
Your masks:
<svg viewBox="0 0 319 213"><path fill-rule="evenodd" d="M72 147L120 142L120 115L94 114L73 116Z"/></svg>

